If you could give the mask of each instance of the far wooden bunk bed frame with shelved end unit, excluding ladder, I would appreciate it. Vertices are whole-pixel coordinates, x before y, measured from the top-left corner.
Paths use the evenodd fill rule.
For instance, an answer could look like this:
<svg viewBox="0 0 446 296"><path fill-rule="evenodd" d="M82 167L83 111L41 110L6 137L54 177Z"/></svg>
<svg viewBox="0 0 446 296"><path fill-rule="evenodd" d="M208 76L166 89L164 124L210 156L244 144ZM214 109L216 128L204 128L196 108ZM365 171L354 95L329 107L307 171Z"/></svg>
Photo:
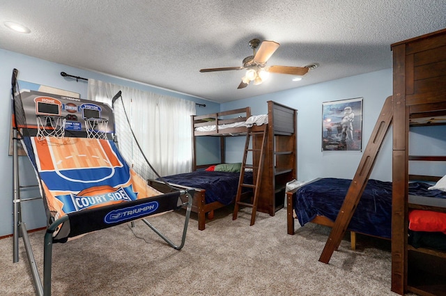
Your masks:
<svg viewBox="0 0 446 296"><path fill-rule="evenodd" d="M245 125L248 118L252 117L250 107L234 109L229 111L217 112L200 116L192 116L193 132L193 171L203 173L203 170L215 164L197 164L199 157L197 155L197 137L218 137L220 139L220 162L225 163L225 139L226 137L245 136L248 130ZM296 129L297 129L297 111L286 107L277 102L268 101L268 141L266 155L263 166L262 182L257 210L275 215L275 212L284 206L284 194L286 182L295 179L296 170ZM257 137L256 137L257 138ZM254 139L253 148L261 145L261 137ZM240 155L241 155L240 151ZM260 155L255 155L260 157ZM246 175L245 175L246 176ZM164 177L167 182L176 180L176 176ZM246 178L246 177L245 177ZM254 177L253 177L254 178ZM187 178L182 178L177 186L190 186ZM231 202L206 201L206 189L194 187L195 194L192 203L192 212L196 212L199 220L199 230L204 230L206 225L206 216L213 219L214 210L222 208L232 203L238 186L236 178L235 191L232 196L224 196ZM149 184L157 187L156 181L149 180ZM227 185L226 185L227 186ZM245 193L249 196L249 192ZM209 198L208 198L209 199Z"/></svg>

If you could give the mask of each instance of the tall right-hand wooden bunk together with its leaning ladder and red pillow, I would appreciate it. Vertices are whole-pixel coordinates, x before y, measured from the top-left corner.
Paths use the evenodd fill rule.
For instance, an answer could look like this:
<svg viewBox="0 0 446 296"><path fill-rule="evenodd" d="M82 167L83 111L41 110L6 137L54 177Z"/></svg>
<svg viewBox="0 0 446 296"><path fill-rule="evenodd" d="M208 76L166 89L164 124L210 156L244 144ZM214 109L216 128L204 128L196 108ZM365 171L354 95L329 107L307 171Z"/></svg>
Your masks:
<svg viewBox="0 0 446 296"><path fill-rule="evenodd" d="M429 155L429 151L428 155L409 153L411 127L445 126L446 29L395 43L392 51L393 95L387 98L376 122L319 261L328 263L333 251L339 247L367 185L383 137L393 121L392 291L401 295L407 291L419 295L446 295L446 176L441 178L431 176L432 173L409 173L409 162L412 161L446 162L444 146L439 150L444 155L440 156ZM438 133L445 134L444 130ZM440 192L440 195L413 194L410 192L413 180L438 180L428 190L436 189L432 191ZM416 210L425 212L414 215ZM417 217L414 219L414 216ZM435 223L427 221L431 216L437 217ZM420 221L424 225L414 227ZM420 236L420 232L438 234L437 238L440 239L436 247L426 241L424 244L427 247L414 244L413 237L417 236L416 233ZM411 237L410 244L408 235Z"/></svg>

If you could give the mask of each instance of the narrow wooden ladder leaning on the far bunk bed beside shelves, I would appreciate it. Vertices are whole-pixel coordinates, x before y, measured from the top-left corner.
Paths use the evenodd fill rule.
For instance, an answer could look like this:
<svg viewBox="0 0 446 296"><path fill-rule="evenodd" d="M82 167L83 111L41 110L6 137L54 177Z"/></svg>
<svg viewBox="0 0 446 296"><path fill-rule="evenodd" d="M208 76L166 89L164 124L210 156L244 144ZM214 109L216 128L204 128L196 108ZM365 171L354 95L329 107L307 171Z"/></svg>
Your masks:
<svg viewBox="0 0 446 296"><path fill-rule="evenodd" d="M261 146L259 149L249 148L249 142L251 145L254 142L255 137L261 137ZM234 205L234 212L232 219L237 219L238 210L240 205L252 207L251 213L251 226L256 221L257 203L259 203L261 176L263 172L263 162L265 159L265 147L266 138L268 137L268 125L260 125L256 127L249 127L246 134L245 152L243 153L243 162L240 169L240 178L238 180L238 188L236 195L236 203ZM252 140L252 141L251 141ZM252 154L252 164L247 164L247 155ZM255 162L258 160L258 162ZM253 184L245 184L245 169L252 169L253 171ZM252 188L252 203L241 201L243 187Z"/></svg>

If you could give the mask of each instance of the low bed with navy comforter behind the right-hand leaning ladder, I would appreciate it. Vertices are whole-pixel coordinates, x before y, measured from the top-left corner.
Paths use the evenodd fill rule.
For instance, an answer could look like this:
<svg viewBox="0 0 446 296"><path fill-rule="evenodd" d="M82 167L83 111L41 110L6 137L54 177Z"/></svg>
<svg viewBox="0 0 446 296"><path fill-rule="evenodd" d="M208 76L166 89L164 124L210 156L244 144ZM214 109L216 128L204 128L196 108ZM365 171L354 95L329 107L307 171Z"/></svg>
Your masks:
<svg viewBox="0 0 446 296"><path fill-rule="evenodd" d="M318 178L287 192L288 234L295 233L296 218L301 226L308 222L334 226L350 185L349 179ZM410 182L409 192L411 196L424 196L430 201L443 201L446 198L445 192L429 187L431 185L424 182ZM391 226L392 182L370 179L348 225L352 249L355 249L355 233L390 240Z"/></svg>

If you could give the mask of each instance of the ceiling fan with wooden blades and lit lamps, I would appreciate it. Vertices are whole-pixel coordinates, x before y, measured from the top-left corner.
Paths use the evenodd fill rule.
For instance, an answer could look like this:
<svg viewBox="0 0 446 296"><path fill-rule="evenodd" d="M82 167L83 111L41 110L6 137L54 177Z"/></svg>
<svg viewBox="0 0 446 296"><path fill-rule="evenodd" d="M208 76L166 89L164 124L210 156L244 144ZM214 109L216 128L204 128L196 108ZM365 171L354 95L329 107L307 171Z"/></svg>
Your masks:
<svg viewBox="0 0 446 296"><path fill-rule="evenodd" d="M254 81L254 85L261 84L269 75L269 73L282 73L289 75L302 76L307 74L311 67L291 67L286 65L271 65L266 66L266 61L270 59L272 54L279 48L279 43L274 41L263 41L260 44L259 39L252 39L249 41L249 47L254 50L252 56L247 56L243 59L243 66L240 67L226 67L226 68L209 68L201 69L200 72L215 72L227 70L243 70L246 69L246 75L242 78L242 82L238 88L245 88L249 82ZM256 52L256 48L259 50Z"/></svg>

